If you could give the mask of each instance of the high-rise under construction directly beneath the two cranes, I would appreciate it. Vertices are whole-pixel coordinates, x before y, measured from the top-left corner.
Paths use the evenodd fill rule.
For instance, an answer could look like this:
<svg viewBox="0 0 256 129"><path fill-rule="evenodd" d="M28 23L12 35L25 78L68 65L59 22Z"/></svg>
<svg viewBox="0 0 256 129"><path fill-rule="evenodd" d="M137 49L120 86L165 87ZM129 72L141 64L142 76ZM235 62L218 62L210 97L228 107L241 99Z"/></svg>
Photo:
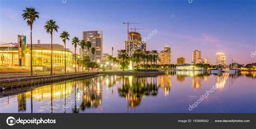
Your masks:
<svg viewBox="0 0 256 129"><path fill-rule="evenodd" d="M136 49L146 50L146 42L142 42L142 36L138 32L129 32L129 40L125 41L125 50L132 55Z"/></svg>

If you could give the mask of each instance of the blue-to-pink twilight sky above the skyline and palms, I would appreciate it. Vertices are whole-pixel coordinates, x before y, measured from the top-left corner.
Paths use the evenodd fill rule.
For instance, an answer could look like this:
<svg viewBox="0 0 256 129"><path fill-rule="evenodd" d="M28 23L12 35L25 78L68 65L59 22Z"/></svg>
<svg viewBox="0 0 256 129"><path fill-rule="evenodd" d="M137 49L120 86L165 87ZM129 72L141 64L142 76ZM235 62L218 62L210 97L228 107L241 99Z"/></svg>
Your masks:
<svg viewBox="0 0 256 129"><path fill-rule="evenodd" d="M147 50L164 49L167 44L172 50L172 63L177 57L192 61L192 51L198 49L202 57L215 63L215 54L224 52L238 63L255 62L255 0L1 0L0 1L0 44L15 42L17 35L29 31L22 13L26 7L39 12L33 24L33 43L50 43L50 35L44 25L49 19L56 21L59 31L53 33L53 43L63 44L59 38L62 31L82 38L83 31L103 30L103 52L114 56L118 49L125 49L127 26L131 24L142 37L158 31L147 40ZM30 43L30 34L27 35ZM74 51L71 40L67 47Z"/></svg>

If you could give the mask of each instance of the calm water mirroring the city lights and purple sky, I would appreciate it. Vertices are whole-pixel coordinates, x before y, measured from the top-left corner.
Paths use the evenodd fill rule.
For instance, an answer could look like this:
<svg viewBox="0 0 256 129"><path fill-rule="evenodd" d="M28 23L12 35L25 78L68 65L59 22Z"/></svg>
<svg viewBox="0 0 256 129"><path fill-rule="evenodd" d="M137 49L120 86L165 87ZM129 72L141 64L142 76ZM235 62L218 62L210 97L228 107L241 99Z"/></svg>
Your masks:
<svg viewBox="0 0 256 129"><path fill-rule="evenodd" d="M1 113L255 113L256 72L169 72L163 76L106 76L5 90ZM210 91L192 111L188 105ZM28 89L28 90L24 90ZM66 105L66 106L65 106Z"/></svg>

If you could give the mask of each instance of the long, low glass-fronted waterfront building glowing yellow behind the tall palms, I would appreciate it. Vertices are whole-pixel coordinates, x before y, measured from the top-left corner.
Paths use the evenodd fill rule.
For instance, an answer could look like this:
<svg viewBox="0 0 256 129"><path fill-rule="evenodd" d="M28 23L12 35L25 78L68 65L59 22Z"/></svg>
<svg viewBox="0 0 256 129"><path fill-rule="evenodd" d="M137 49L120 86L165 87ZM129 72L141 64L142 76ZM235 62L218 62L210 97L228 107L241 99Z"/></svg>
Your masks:
<svg viewBox="0 0 256 129"><path fill-rule="evenodd" d="M33 44L32 65L33 66L51 66L51 44ZM52 44L52 64L53 67L64 67L65 58L66 66L72 67L73 53L66 50L64 46ZM26 44L25 36L18 36L18 43L9 43L0 45L0 65L1 66L22 66L24 69L30 66L30 49L31 45ZM71 68L70 68L71 69Z"/></svg>

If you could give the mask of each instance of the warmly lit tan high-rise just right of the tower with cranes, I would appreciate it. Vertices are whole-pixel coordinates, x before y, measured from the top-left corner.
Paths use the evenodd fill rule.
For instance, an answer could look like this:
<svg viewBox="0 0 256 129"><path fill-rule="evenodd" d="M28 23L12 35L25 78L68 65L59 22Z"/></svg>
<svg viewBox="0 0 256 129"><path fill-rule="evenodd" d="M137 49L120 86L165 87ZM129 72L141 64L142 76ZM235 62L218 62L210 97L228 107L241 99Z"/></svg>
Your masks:
<svg viewBox="0 0 256 129"><path fill-rule="evenodd" d="M171 47L168 45L164 46L164 51L160 51L159 57L160 57L160 64L171 64L171 58L172 58L172 52L171 52Z"/></svg>

